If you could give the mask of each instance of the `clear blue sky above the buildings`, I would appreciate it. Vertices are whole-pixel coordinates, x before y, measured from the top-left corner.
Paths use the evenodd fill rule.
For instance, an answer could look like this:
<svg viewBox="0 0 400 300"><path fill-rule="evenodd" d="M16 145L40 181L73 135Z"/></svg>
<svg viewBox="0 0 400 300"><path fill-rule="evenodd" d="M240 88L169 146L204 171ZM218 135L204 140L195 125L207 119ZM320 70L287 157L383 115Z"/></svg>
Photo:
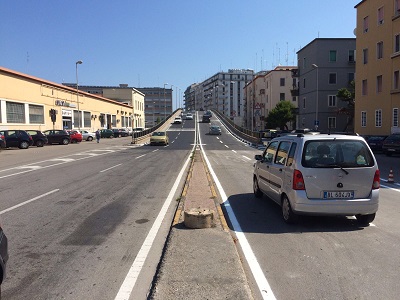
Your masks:
<svg viewBox="0 0 400 300"><path fill-rule="evenodd" d="M219 71L296 65L317 37L354 37L359 2L1 0L0 66L74 83L82 60L82 85L169 83L183 95Z"/></svg>

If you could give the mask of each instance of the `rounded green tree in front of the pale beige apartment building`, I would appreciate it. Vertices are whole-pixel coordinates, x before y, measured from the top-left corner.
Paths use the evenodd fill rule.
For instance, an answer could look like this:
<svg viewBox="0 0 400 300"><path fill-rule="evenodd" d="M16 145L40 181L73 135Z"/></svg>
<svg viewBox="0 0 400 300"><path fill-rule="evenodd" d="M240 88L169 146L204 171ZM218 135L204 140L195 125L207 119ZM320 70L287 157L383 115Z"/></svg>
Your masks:
<svg viewBox="0 0 400 300"><path fill-rule="evenodd" d="M281 130L287 130L287 123L294 122L296 119L295 109L295 106L290 101L279 102L266 118L268 128L279 127Z"/></svg>

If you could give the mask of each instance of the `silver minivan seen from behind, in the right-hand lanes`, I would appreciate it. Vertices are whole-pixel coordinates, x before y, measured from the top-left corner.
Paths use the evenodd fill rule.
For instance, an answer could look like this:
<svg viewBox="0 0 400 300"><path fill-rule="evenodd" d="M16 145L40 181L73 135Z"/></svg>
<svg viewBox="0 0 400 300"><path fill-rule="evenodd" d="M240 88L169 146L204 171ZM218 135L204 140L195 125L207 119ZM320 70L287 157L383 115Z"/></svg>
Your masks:
<svg viewBox="0 0 400 300"><path fill-rule="evenodd" d="M254 195L281 205L285 222L302 214L355 216L362 226L374 220L380 174L364 138L287 135L272 139L255 159Z"/></svg>

